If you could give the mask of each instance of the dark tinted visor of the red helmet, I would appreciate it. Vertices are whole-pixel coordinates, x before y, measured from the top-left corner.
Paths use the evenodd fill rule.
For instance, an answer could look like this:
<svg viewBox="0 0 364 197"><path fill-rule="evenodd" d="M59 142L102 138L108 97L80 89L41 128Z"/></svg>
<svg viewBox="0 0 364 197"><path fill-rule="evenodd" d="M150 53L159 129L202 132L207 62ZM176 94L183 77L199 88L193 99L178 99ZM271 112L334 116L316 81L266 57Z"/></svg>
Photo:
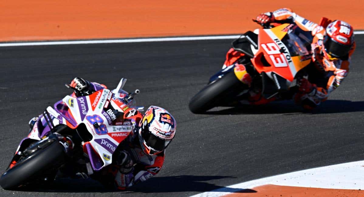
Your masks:
<svg viewBox="0 0 364 197"><path fill-rule="evenodd" d="M351 46L344 45L332 40L328 35L324 38L325 51L334 58L341 58L348 55Z"/></svg>

